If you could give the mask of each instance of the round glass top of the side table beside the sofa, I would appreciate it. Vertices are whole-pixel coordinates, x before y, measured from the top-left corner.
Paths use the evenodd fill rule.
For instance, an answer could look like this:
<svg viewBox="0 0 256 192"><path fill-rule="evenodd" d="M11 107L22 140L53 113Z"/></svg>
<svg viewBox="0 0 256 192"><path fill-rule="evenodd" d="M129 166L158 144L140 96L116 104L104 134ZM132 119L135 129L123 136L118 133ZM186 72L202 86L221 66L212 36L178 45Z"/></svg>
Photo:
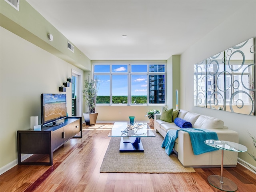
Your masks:
<svg viewBox="0 0 256 192"><path fill-rule="evenodd" d="M246 146L243 146L239 143L231 142L231 141L222 141L222 140L205 140L204 143L208 146L217 148L217 149L224 149L234 152L246 152Z"/></svg>

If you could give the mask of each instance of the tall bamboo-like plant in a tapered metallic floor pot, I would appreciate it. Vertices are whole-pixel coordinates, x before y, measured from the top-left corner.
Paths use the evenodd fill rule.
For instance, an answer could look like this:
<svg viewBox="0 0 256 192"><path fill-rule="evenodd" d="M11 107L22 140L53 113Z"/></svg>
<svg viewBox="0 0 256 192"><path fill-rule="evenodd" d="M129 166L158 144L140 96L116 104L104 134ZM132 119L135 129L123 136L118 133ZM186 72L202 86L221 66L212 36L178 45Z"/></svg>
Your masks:
<svg viewBox="0 0 256 192"><path fill-rule="evenodd" d="M83 113L86 125L95 125L98 113L95 112L97 98L97 83L98 79L89 78L84 80L83 97L88 107L88 112Z"/></svg>

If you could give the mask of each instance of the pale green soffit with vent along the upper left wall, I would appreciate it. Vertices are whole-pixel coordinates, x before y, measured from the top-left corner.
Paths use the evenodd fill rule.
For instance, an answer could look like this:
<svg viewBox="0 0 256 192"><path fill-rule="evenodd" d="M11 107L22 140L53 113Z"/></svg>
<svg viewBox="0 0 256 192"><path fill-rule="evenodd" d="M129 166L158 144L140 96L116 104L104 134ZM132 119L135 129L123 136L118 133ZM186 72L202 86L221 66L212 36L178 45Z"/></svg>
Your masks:
<svg viewBox="0 0 256 192"><path fill-rule="evenodd" d="M90 59L24 0L19 11L0 0L0 26L82 70L91 70ZM54 37L51 42L49 33ZM68 41L74 53L67 48Z"/></svg>

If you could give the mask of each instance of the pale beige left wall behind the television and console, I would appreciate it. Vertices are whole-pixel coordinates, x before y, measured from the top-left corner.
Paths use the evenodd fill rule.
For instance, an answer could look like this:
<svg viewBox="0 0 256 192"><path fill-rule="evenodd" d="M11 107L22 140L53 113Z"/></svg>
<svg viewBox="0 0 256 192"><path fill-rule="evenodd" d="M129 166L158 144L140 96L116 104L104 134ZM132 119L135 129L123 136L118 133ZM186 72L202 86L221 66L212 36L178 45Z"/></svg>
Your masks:
<svg viewBox="0 0 256 192"><path fill-rule="evenodd" d="M17 130L30 129L30 116L40 118L40 94L64 93L58 87L77 67L0 27L0 167L17 159ZM83 77L82 77L83 79ZM66 88L71 114L71 87ZM15 165L15 164L14 164Z"/></svg>

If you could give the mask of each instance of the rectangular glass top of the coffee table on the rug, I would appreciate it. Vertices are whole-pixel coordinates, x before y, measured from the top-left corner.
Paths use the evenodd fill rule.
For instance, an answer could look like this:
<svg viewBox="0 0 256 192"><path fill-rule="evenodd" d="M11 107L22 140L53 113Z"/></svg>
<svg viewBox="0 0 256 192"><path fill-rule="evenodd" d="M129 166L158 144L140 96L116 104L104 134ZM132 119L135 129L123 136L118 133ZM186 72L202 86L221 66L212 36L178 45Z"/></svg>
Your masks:
<svg viewBox="0 0 256 192"><path fill-rule="evenodd" d="M147 123L115 122L108 134L110 137L155 137Z"/></svg>

